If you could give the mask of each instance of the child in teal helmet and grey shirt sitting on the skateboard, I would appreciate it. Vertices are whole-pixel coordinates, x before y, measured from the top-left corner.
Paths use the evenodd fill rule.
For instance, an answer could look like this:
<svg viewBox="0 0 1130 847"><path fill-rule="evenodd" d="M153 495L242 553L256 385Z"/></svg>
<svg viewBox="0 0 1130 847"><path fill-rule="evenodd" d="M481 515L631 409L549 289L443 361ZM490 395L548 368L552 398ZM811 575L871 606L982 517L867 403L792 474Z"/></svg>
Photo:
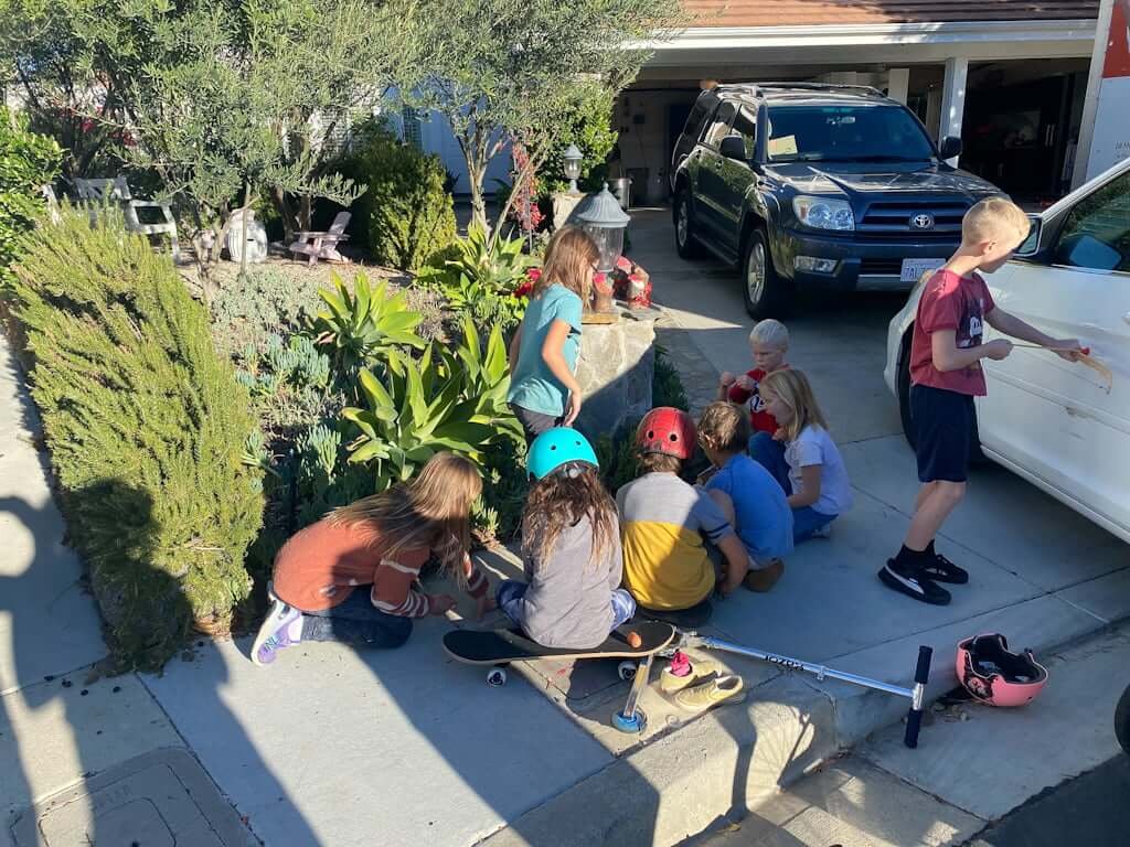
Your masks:
<svg viewBox="0 0 1130 847"><path fill-rule="evenodd" d="M497 602L546 647L589 649L635 614L623 575L616 504L597 475L597 454L575 429L548 429L530 445L536 480L522 514L528 583L506 579Z"/></svg>

